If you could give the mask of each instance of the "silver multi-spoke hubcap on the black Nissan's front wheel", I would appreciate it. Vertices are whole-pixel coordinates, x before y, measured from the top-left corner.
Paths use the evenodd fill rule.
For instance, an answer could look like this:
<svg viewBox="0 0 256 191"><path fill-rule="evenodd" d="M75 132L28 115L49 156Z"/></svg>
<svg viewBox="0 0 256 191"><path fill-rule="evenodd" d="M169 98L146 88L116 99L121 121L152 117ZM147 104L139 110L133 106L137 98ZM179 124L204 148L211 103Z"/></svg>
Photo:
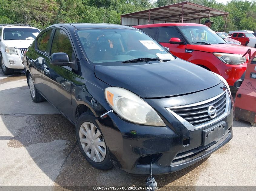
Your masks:
<svg viewBox="0 0 256 191"><path fill-rule="evenodd" d="M97 127L85 122L79 129L79 138L85 154L95 162L101 162L106 156L106 144Z"/></svg>

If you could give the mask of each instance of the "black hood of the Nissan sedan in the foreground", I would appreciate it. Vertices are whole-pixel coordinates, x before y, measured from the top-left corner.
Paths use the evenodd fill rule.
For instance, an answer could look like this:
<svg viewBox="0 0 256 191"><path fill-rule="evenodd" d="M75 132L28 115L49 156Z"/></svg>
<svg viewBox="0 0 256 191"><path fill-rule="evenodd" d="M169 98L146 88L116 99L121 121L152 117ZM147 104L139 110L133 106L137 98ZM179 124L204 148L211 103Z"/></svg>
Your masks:
<svg viewBox="0 0 256 191"><path fill-rule="evenodd" d="M212 72L179 58L141 65L95 65L95 76L144 98L189 94L221 83Z"/></svg>

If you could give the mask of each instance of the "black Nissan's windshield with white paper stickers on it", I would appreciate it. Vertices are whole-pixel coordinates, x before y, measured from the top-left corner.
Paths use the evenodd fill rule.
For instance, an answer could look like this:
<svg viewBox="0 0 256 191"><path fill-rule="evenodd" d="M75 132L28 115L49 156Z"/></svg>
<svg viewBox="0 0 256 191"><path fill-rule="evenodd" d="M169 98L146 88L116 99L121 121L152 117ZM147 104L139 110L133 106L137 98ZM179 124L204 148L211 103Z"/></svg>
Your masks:
<svg viewBox="0 0 256 191"><path fill-rule="evenodd" d="M88 59L97 65L124 65L121 62L138 58L174 59L140 30L81 29L76 34Z"/></svg>

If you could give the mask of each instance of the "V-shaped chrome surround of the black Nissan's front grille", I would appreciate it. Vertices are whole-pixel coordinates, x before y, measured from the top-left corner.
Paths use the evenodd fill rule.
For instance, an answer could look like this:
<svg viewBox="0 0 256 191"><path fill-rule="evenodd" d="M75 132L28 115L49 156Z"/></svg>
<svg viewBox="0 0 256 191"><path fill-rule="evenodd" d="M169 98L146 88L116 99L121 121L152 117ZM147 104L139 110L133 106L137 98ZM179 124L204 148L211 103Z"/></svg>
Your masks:
<svg viewBox="0 0 256 191"><path fill-rule="evenodd" d="M193 103L193 104L181 106L181 107L190 107L190 106L201 105L201 104L204 104L204 103L209 103L209 102L213 101L214 99L217 99L218 97L223 95L225 92L226 92L226 107L225 107L224 113L221 116L218 116L217 118L212 119L211 121L202 123L198 126L193 126L191 123L189 123L184 118L182 118L181 116L179 116L178 114L176 114L174 111L171 110L171 108L180 108L179 106L178 107L165 107L165 109L168 110L173 116L175 116L185 126L185 128L188 129L189 131L194 130L194 129L198 129L198 128L202 128L202 127L211 125L211 124L223 119L224 117L226 117L230 113L231 99L230 99L230 95L229 95L228 91L225 90L223 93L219 94L218 96L215 96L215 97L210 98L208 100L204 100L204 101L201 101L201 102L198 102L198 103Z"/></svg>

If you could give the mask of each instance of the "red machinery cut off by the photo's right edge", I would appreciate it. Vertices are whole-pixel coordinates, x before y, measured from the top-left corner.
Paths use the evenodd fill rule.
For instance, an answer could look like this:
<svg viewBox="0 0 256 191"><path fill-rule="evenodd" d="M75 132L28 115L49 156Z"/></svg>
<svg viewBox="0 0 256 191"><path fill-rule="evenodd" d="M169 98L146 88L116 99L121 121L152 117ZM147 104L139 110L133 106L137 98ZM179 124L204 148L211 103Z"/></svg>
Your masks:
<svg viewBox="0 0 256 191"><path fill-rule="evenodd" d="M251 49L244 54L249 54L249 62L243 83L236 93L235 120L245 120L256 125L256 51L251 56Z"/></svg>

